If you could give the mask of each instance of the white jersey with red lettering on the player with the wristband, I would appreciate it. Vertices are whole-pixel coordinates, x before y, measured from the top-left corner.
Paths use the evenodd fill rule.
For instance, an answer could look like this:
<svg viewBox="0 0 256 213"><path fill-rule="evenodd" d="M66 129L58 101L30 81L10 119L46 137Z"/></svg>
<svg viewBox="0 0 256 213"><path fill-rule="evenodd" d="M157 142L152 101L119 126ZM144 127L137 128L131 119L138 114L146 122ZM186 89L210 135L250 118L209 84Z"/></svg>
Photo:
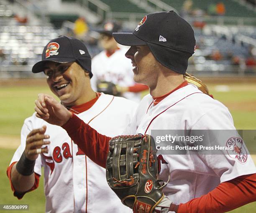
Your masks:
<svg viewBox="0 0 256 213"><path fill-rule="evenodd" d="M123 132L136 108L137 104L130 100L101 93L89 110L77 116L99 133L112 137ZM48 145L49 153L36 159L34 171L41 175L41 167L44 167L46 212L131 212L108 186L105 169L84 155L63 128L46 123L35 114L24 122L21 144L11 163L20 159L28 133L43 125L47 126L46 134L50 135L51 143Z"/></svg>

